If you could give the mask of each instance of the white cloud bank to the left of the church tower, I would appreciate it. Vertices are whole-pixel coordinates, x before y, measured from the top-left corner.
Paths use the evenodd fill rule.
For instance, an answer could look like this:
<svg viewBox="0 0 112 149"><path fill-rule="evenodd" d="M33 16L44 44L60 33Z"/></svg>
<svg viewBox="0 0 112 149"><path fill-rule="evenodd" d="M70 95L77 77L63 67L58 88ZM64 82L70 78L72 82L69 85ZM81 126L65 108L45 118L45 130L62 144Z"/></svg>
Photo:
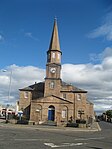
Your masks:
<svg viewBox="0 0 112 149"><path fill-rule="evenodd" d="M3 69L0 70L0 103L2 104L7 102L15 103L19 99L19 88L24 88L35 82L43 81L45 77L45 70L33 66L19 67L11 65L6 69L6 72L3 72ZM10 100L8 101L10 76L11 92Z"/></svg>

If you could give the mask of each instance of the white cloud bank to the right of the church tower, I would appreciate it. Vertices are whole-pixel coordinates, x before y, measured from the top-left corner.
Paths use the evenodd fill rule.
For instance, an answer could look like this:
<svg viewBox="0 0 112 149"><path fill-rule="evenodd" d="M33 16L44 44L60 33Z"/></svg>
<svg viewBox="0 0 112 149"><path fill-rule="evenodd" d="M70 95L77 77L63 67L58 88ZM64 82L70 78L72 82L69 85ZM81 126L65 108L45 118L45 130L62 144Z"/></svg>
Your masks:
<svg viewBox="0 0 112 149"><path fill-rule="evenodd" d="M101 63L64 64L62 77L63 80L87 90L88 98L95 103L95 109L104 111L112 108L112 48L106 48L96 57L100 58Z"/></svg>

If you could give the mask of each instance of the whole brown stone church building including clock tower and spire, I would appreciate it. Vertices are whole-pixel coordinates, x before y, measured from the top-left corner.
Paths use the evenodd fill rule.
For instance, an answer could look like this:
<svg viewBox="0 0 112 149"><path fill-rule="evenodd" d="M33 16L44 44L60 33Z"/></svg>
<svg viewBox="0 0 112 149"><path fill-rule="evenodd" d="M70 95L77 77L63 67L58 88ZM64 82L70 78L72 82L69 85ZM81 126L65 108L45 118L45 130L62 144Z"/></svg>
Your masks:
<svg viewBox="0 0 112 149"><path fill-rule="evenodd" d="M29 123L42 124L53 121L61 125L71 118L74 121L88 120L94 116L93 104L87 100L87 91L62 81L61 57L55 19L47 51L45 81L19 89L19 110L23 111Z"/></svg>

